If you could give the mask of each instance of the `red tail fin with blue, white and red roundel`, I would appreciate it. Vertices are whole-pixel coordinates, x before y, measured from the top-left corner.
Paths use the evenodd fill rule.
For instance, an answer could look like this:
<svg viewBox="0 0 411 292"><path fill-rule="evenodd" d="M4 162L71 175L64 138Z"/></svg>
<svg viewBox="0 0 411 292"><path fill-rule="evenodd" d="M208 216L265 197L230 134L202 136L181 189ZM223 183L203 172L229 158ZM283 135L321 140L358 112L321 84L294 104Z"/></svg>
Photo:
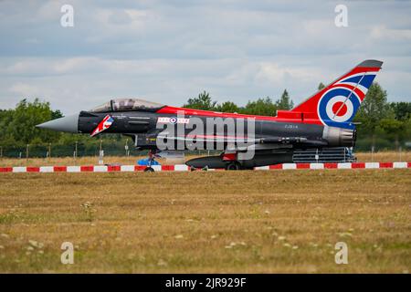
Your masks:
<svg viewBox="0 0 411 292"><path fill-rule="evenodd" d="M382 65L381 61L365 60L292 111L317 116L327 126L354 128L353 117Z"/></svg>

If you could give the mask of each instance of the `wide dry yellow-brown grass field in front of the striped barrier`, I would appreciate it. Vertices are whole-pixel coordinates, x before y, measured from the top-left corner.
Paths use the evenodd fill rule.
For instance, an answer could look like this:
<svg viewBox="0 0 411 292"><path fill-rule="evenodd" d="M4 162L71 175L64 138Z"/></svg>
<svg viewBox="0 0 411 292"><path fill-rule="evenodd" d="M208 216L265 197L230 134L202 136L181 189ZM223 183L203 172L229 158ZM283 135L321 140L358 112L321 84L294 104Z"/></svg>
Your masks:
<svg viewBox="0 0 411 292"><path fill-rule="evenodd" d="M2 173L0 185L2 273L411 268L408 169ZM348 265L334 262L341 241Z"/></svg>

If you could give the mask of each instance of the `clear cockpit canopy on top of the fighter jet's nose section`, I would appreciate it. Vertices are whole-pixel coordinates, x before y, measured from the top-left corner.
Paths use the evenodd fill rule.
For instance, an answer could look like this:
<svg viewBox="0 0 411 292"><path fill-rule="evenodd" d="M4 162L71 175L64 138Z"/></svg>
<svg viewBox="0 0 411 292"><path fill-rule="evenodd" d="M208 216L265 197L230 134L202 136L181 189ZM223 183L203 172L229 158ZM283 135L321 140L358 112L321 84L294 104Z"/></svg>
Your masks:
<svg viewBox="0 0 411 292"><path fill-rule="evenodd" d="M143 99L111 99L110 101L96 107L90 112L108 112L108 111L156 111L163 108L163 104Z"/></svg>

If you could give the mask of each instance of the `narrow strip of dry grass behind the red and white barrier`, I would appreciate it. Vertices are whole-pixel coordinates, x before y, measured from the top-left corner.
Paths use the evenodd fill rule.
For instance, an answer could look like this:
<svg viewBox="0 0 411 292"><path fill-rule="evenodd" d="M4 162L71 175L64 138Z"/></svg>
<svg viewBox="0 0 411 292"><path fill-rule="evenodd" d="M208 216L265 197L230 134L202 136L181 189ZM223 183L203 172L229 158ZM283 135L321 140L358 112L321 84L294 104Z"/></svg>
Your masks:
<svg viewBox="0 0 411 292"><path fill-rule="evenodd" d="M355 154L358 158L358 162L411 162L411 151L381 151L381 152L358 152ZM185 160L195 158L198 156L186 156ZM118 157L118 156L107 156L104 157L104 163L120 163L120 164L135 164L137 160L146 157ZM74 160L72 157L65 158L31 158L26 160L23 159L11 159L11 158L1 158L0 166L47 166L47 165L91 165L98 164L99 157L79 157ZM184 160L174 160L165 161L160 159L159 162L162 164L181 164Z"/></svg>

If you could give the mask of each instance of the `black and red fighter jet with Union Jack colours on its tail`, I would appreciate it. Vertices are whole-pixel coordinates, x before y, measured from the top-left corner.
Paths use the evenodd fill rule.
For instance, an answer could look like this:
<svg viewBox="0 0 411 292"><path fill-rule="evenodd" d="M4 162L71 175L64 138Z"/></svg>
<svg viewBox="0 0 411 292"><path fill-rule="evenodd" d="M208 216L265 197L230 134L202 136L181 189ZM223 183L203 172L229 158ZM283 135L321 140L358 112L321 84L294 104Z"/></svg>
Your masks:
<svg viewBox="0 0 411 292"><path fill-rule="evenodd" d="M292 162L294 151L352 147L353 117L383 62L365 60L292 110L276 117L191 110L142 99L111 99L93 110L38 128L73 133L121 133L149 151L146 171L162 151L217 150L186 162L195 168L248 169Z"/></svg>

